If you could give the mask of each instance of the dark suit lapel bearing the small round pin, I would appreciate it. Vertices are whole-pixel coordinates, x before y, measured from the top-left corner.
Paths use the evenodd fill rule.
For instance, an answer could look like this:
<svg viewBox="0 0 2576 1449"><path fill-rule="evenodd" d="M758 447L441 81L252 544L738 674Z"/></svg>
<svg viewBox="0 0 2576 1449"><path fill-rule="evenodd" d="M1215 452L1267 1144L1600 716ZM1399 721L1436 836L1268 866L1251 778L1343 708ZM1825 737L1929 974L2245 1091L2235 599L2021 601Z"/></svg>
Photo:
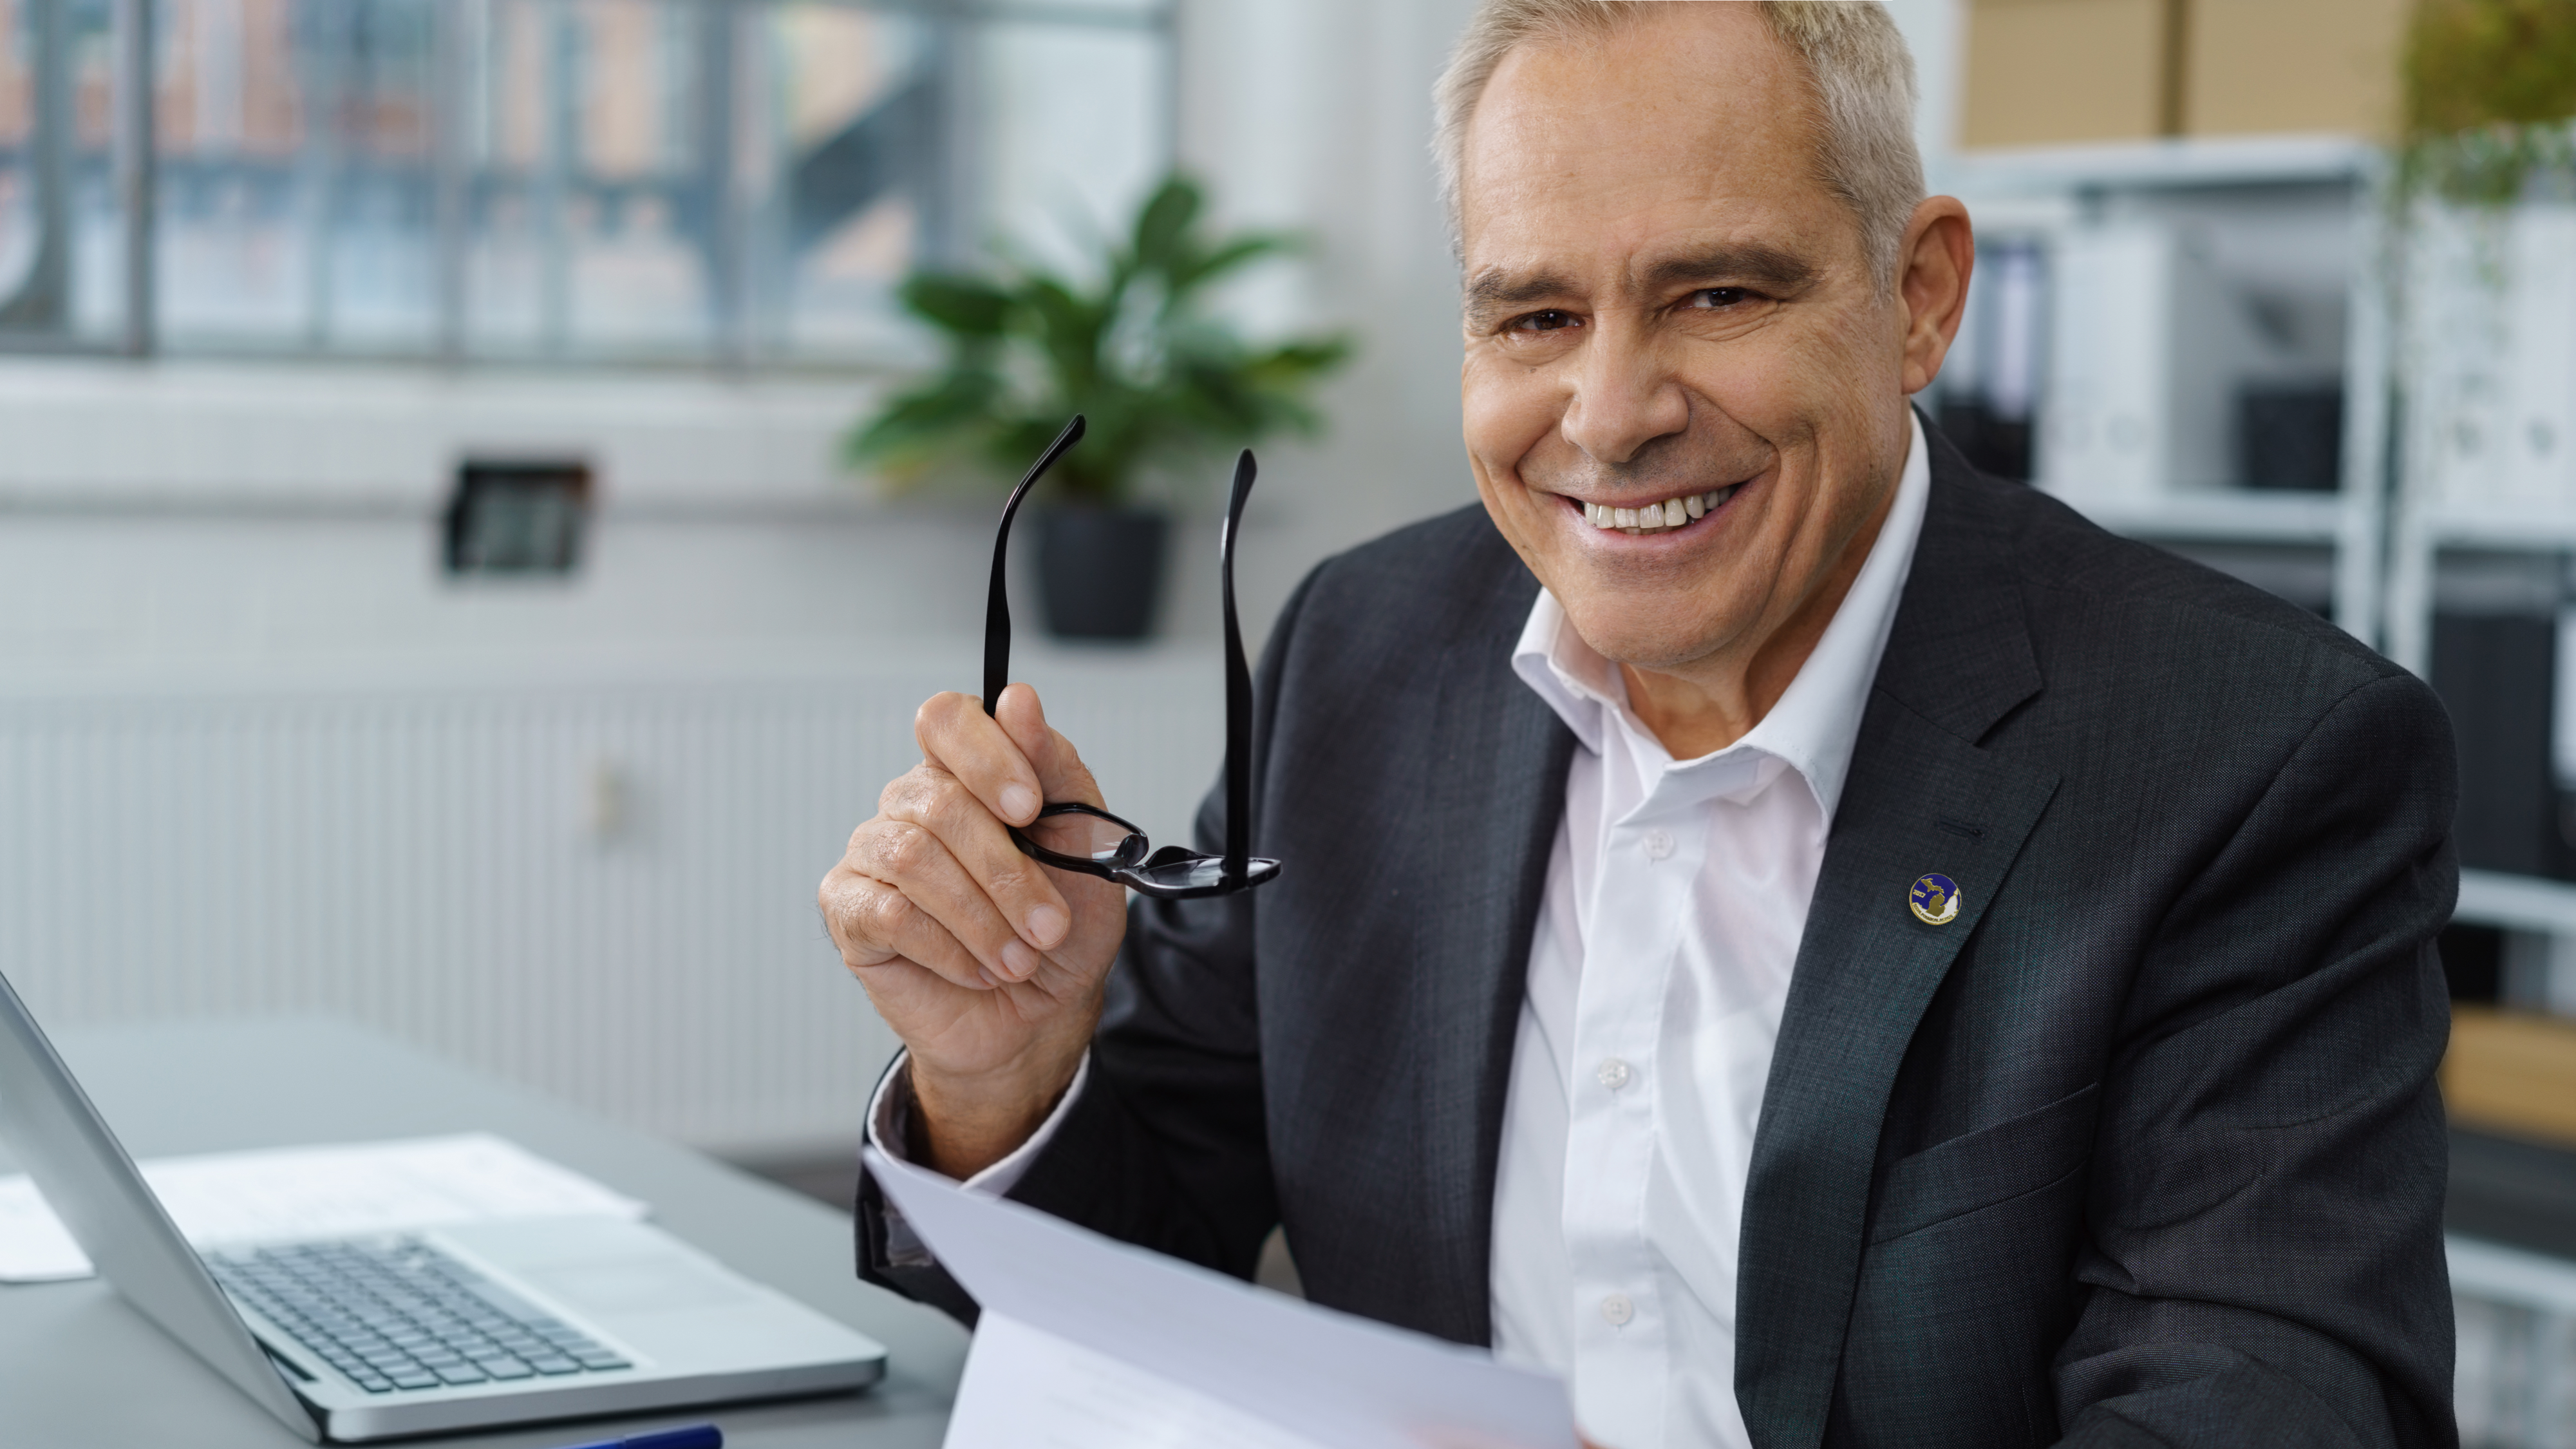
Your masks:
<svg viewBox="0 0 2576 1449"><path fill-rule="evenodd" d="M1754 1132L1736 1284L1736 1400L1762 1449L1821 1441L1860 1274L1888 1091L2056 776L1976 745L2040 688L1984 490L1940 433L1932 503L1826 838ZM1958 882L1917 920L1914 879Z"/></svg>

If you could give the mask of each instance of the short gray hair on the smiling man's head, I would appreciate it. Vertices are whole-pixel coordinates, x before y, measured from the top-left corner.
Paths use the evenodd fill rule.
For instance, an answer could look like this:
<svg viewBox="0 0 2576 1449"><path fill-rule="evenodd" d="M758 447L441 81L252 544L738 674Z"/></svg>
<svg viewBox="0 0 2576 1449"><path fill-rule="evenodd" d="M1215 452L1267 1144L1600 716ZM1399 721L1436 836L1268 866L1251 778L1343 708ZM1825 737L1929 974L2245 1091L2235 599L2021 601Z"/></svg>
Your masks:
<svg viewBox="0 0 2576 1449"><path fill-rule="evenodd" d="M1440 204L1450 250L1466 250L1458 173L1466 126L1494 70L1533 36L1605 36L1659 0L1481 0L1458 36L1432 90L1440 126ZM1914 52L1878 0L1759 0L1762 18L1801 62L1824 116L1816 137L1816 180L1860 219L1860 248L1878 291L1896 284L1896 248L1924 199L1924 162L1914 150Z"/></svg>

